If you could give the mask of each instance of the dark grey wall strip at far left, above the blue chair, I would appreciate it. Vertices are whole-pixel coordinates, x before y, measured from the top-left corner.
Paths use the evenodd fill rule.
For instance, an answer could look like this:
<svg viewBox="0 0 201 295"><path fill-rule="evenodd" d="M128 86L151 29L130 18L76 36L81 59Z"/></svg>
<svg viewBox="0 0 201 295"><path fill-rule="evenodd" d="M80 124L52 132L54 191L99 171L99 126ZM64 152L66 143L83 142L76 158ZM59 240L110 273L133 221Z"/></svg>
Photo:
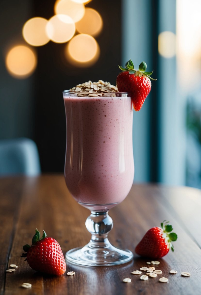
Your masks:
<svg viewBox="0 0 201 295"><path fill-rule="evenodd" d="M5 66L7 51L25 44L24 23L33 17L32 1L1 0L0 8L0 139L33 137L34 75L16 79Z"/></svg>

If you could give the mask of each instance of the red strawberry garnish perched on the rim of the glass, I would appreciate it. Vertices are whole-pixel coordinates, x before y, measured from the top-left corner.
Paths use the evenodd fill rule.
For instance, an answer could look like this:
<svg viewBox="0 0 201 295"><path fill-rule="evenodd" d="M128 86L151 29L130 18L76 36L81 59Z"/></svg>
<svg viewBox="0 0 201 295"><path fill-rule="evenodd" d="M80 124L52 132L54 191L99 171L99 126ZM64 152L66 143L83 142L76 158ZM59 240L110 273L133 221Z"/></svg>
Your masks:
<svg viewBox="0 0 201 295"><path fill-rule="evenodd" d="M135 111L139 111L146 99L147 95L151 91L151 78L152 72L146 72L145 61L139 65L139 70L134 69L132 60L128 60L125 68L119 65L121 73L118 74L116 80L116 86L120 92L131 92L131 98L133 101L133 107ZM151 79L151 80L150 80Z"/></svg>

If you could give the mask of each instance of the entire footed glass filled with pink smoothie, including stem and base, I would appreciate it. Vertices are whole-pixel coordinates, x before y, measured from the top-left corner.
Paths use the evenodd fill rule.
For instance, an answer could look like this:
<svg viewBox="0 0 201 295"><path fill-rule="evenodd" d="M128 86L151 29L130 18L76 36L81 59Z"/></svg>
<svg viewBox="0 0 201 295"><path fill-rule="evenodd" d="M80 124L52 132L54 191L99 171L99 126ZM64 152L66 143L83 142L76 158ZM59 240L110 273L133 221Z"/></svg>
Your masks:
<svg viewBox="0 0 201 295"><path fill-rule="evenodd" d="M108 210L126 198L134 178L133 106L126 92L84 95L63 92L65 181L73 198L91 211L85 225L92 237L85 247L68 251L66 259L88 266L117 265L133 258L131 251L108 241L113 227Z"/></svg>

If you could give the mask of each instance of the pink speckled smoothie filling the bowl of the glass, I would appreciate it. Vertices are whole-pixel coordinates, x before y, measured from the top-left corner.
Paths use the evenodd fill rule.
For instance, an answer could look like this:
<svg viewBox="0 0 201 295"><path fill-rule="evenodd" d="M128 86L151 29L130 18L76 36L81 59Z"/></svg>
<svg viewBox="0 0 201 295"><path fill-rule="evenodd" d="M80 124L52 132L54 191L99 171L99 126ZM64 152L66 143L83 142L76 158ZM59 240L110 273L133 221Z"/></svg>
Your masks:
<svg viewBox="0 0 201 295"><path fill-rule="evenodd" d="M134 178L131 98L64 96L64 103L67 187L84 207L110 209Z"/></svg>

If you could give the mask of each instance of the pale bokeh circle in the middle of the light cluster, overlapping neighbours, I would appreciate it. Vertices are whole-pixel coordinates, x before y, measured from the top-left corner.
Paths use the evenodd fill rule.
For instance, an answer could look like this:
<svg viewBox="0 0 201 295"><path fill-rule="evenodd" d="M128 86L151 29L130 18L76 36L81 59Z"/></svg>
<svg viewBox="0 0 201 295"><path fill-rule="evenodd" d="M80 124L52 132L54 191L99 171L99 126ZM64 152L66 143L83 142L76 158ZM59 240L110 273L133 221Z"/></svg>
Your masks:
<svg viewBox="0 0 201 295"><path fill-rule="evenodd" d="M75 23L68 15L56 14L49 19L46 32L53 42L64 43L70 40L75 34Z"/></svg>

